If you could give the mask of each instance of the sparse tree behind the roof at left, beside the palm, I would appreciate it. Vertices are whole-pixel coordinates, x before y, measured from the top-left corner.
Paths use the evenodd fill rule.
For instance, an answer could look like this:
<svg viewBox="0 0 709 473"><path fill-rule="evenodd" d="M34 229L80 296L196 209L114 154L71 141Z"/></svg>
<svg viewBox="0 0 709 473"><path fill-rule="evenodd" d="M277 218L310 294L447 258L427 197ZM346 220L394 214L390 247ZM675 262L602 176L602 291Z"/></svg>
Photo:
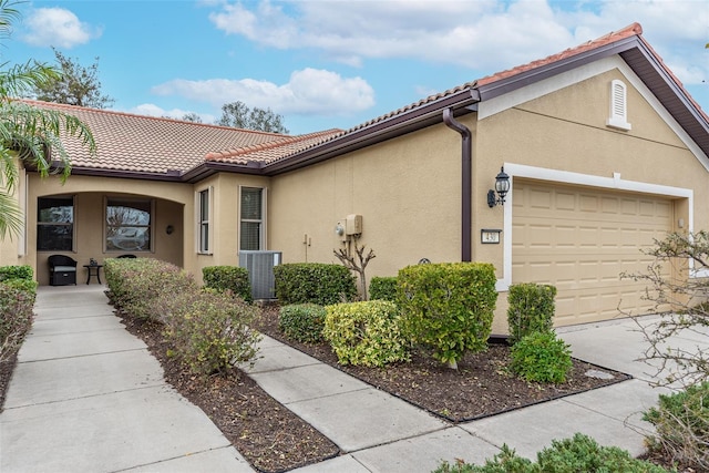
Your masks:
<svg viewBox="0 0 709 473"><path fill-rule="evenodd" d="M32 90L32 96L38 100L68 105L106 109L114 102L109 95L101 93L99 80L99 58L91 66L84 68L71 58L53 49L61 70L60 75L39 82Z"/></svg>

